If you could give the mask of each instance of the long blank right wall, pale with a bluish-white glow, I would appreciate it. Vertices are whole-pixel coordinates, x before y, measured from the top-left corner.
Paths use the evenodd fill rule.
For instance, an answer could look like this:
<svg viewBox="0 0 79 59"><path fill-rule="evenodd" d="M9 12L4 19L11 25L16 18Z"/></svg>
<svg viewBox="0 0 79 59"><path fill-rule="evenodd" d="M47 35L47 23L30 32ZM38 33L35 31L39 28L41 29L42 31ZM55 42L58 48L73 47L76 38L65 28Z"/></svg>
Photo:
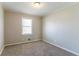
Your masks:
<svg viewBox="0 0 79 59"><path fill-rule="evenodd" d="M43 39L79 53L79 5L44 17Z"/></svg>

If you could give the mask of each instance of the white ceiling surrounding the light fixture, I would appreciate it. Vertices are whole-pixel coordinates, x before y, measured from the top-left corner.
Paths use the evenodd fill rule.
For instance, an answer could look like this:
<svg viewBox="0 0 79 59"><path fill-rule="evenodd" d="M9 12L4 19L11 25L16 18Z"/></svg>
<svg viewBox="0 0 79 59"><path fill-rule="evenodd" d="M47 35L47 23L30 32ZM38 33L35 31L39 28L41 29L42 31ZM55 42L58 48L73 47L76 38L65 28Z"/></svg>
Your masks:
<svg viewBox="0 0 79 59"><path fill-rule="evenodd" d="M58 9L65 8L76 4L75 2L41 2L43 5L40 8L32 7L32 2L3 2L3 7L6 10L15 12L27 13L31 15L45 16Z"/></svg>

